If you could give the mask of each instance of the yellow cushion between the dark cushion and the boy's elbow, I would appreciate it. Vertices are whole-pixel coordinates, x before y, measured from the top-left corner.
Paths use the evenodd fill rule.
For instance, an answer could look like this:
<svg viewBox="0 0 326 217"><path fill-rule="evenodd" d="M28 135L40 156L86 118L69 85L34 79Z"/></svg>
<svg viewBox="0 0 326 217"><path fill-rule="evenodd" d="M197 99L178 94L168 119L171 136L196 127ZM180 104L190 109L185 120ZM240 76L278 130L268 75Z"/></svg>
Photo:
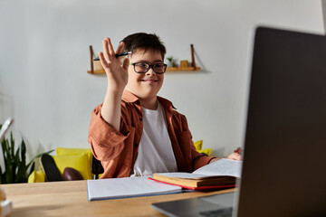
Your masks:
<svg viewBox="0 0 326 217"><path fill-rule="evenodd" d="M53 156L54 162L57 165L61 174L66 167L72 167L79 171L84 179L91 179L91 167L89 156L72 155L72 156Z"/></svg>

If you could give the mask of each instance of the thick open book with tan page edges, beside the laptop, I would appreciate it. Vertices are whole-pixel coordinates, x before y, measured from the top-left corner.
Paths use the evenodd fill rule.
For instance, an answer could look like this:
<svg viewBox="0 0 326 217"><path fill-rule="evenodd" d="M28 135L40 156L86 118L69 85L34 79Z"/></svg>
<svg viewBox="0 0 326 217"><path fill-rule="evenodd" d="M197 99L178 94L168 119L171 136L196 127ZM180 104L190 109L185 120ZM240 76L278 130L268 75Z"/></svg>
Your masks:
<svg viewBox="0 0 326 217"><path fill-rule="evenodd" d="M223 158L193 173L158 173L152 179L193 190L234 187L235 179L241 176L241 167L242 161Z"/></svg>

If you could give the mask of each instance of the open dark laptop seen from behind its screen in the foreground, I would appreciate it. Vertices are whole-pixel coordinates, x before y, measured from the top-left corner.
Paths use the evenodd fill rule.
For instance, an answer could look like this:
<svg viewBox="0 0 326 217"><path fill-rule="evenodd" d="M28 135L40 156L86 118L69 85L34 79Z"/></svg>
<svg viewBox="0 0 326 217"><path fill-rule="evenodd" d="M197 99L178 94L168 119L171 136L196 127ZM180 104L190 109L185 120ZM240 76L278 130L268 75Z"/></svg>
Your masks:
<svg viewBox="0 0 326 217"><path fill-rule="evenodd" d="M239 191L153 208L168 216L326 216L326 37L258 27L253 55Z"/></svg>

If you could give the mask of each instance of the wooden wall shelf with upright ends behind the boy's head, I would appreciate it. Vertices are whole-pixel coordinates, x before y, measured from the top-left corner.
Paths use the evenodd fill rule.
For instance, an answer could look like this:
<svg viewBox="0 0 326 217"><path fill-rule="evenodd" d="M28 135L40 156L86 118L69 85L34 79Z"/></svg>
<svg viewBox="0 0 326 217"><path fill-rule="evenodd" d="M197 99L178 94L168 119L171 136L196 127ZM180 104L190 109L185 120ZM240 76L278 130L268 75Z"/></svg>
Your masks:
<svg viewBox="0 0 326 217"><path fill-rule="evenodd" d="M168 67L167 71L200 71L201 68L196 66L196 62L195 62L195 55L194 55L194 45L190 44L190 49L191 49L191 67L183 67L183 68L179 68L179 67ZM105 73L104 70L94 70L94 62L93 62L93 55L94 52L92 50L92 47L90 46L90 52L91 52L91 71L87 71L90 74L103 74Z"/></svg>

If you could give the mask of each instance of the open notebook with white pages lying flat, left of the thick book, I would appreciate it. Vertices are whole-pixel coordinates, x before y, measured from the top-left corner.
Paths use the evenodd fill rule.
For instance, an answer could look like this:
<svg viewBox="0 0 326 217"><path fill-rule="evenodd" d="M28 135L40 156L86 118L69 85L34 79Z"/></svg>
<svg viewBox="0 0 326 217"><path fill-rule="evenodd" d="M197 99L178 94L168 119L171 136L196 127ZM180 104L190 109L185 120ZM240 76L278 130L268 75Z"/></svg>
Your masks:
<svg viewBox="0 0 326 217"><path fill-rule="evenodd" d="M89 201L180 193L181 191L182 188L179 186L157 183L146 176L87 180Z"/></svg>

